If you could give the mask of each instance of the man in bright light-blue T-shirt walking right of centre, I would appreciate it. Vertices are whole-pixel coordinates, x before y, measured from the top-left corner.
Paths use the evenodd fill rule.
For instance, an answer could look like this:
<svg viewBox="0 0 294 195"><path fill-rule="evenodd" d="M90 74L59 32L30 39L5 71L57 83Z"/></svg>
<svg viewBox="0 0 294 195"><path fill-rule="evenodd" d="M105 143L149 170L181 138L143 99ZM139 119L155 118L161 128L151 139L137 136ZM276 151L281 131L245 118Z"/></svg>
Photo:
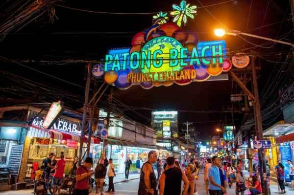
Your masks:
<svg viewBox="0 0 294 195"><path fill-rule="evenodd" d="M212 165L208 170L208 190L209 195L221 195L225 193L224 187L221 186L221 176L219 170L220 159L218 156L212 157Z"/></svg>

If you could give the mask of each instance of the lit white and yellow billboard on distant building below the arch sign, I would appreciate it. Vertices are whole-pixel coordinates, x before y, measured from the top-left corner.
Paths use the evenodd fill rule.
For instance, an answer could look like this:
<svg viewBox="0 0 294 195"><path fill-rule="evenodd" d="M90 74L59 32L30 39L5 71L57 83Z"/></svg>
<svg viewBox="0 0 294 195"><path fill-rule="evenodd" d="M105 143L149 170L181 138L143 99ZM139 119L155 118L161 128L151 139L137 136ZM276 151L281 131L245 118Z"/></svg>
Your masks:
<svg viewBox="0 0 294 195"><path fill-rule="evenodd" d="M177 135L177 111L152 111L151 127L157 137L171 138Z"/></svg>

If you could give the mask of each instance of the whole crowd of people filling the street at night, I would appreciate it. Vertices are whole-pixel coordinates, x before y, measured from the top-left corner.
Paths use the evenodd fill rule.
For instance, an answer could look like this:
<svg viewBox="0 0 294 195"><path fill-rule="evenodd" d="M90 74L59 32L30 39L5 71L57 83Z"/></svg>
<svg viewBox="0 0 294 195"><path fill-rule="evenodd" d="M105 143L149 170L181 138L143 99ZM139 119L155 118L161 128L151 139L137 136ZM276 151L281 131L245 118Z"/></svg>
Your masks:
<svg viewBox="0 0 294 195"><path fill-rule="evenodd" d="M60 195L61 185L64 179L65 160L64 153L60 152L58 160L54 153L43 160L43 165L35 172L35 181L44 179L48 187L53 186L53 195L57 192ZM87 157L82 166L77 166L78 159L75 158L71 174L75 175L74 195L89 194L89 180L94 174L96 182L96 194L98 191L103 195L106 175L108 176L108 190L106 193L114 193L115 165L110 158L100 158L95 168L93 159ZM132 161L127 158L125 164L125 179L128 179ZM294 166L292 161L288 161L290 168L290 179L294 190ZM166 159L157 157L157 152L148 153L146 162L140 158L136 161L136 168L140 174L138 195L195 195L197 194L197 180L199 174L204 174L206 195L225 195L227 188L235 186L236 195L244 195L248 190L251 195L262 193L261 179L258 173L252 173L250 178L245 178L244 164L239 159L236 163L229 160L220 159L217 156L212 158L197 158L184 160L172 156ZM285 172L281 161L275 167L280 194L285 194ZM258 167L257 167L258 169ZM156 170L156 172L154 171ZM258 171L258 170L257 170ZM157 173L157 177L156 177ZM183 184L183 185L182 185ZM100 190L99 190L100 189Z"/></svg>

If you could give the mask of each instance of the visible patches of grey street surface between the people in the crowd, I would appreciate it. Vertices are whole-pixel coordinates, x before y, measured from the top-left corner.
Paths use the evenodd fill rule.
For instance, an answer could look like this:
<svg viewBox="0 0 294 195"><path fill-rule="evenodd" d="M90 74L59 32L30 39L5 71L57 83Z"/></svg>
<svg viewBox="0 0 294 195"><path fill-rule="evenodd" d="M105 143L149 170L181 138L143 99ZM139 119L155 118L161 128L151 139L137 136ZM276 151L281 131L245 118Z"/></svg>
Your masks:
<svg viewBox="0 0 294 195"><path fill-rule="evenodd" d="M115 181L115 180L114 180ZM139 186L139 179L128 180L120 183L115 184L115 195L137 195L138 194L138 186ZM289 187L286 187L286 194L285 195L293 195L293 192L289 191ZM107 186L104 187L104 191L107 190ZM270 183L270 191L271 194L278 194L278 186L276 182ZM21 191L6 191L1 192L0 195L29 195L33 192L32 189L29 190L21 190ZM205 195L205 188L204 188L204 181L203 181L203 174L199 175L199 179L197 180L197 192L198 195ZM104 193L107 195L107 193ZM95 189L91 195L95 195ZM227 195L235 195L235 186L232 188L227 188Z"/></svg>

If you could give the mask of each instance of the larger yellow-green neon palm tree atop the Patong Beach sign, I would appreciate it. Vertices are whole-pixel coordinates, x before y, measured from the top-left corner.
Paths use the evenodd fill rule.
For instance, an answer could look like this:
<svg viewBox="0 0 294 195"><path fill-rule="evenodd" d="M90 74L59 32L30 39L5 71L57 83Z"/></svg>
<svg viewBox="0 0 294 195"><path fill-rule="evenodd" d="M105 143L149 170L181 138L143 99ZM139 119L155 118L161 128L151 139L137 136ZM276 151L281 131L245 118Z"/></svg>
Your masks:
<svg viewBox="0 0 294 195"><path fill-rule="evenodd" d="M178 26L181 26L182 21L184 24L187 23L187 16L194 19L194 14L196 14L196 5L190 6L187 4L186 0L182 0L180 6L172 4L172 8L174 11L171 12L171 15L174 17L173 22L176 22Z"/></svg>

